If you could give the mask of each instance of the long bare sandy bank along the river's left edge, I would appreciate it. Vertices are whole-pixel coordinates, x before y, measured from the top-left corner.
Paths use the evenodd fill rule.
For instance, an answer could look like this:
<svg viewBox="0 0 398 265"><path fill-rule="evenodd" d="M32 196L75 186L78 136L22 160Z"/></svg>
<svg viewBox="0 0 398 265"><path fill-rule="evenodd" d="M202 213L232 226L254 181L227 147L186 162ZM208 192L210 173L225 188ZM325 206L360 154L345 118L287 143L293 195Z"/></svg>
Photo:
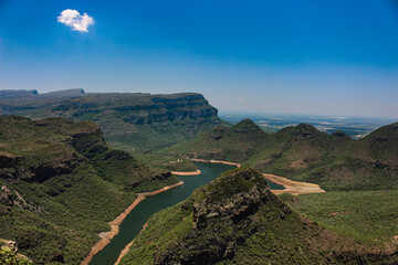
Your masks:
<svg viewBox="0 0 398 265"><path fill-rule="evenodd" d="M158 189L156 191L138 193L138 197L134 200L134 202L123 213L121 213L113 221L108 222L108 224L111 225L111 231L100 233L101 240L92 247L91 252L88 253L86 258L84 258L84 261L81 263L81 265L88 265L88 263L93 259L94 255L97 254L98 252L101 252L107 244L109 244L111 240L115 235L118 234L119 225L122 224L123 220L125 220L125 218L133 211L133 209L136 208L138 205L138 203L144 201L146 197L156 195L156 194L158 194L160 192L167 191L169 189L176 188L176 187L181 186L181 184L184 184L182 181L180 181L178 183L175 183L175 184L171 184L171 186L166 186L166 187L164 187L161 189Z"/></svg>

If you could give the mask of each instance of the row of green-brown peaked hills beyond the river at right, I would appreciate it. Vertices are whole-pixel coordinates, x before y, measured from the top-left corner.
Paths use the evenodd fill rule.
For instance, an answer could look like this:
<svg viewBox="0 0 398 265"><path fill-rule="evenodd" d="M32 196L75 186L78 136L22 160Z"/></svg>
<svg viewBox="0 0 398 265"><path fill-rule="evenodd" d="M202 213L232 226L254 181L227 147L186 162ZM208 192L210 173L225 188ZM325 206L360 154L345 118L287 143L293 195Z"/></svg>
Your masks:
<svg viewBox="0 0 398 265"><path fill-rule="evenodd" d="M244 119L166 148L155 157L228 160L326 190L381 190L398 187L398 124L353 140L342 131L328 136L301 124L275 134ZM166 168L172 169L174 165Z"/></svg>

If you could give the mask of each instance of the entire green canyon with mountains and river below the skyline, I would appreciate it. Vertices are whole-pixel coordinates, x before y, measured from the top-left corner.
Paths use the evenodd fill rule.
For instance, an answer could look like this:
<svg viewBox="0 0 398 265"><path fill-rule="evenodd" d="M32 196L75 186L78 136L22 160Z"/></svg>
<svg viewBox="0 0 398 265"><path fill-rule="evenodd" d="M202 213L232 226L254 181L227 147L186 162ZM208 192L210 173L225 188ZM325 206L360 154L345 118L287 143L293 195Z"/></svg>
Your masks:
<svg viewBox="0 0 398 265"><path fill-rule="evenodd" d="M128 244L119 264L397 262L397 124L270 134L199 94L7 93L0 106L25 116L0 120L0 239L35 263L113 264Z"/></svg>

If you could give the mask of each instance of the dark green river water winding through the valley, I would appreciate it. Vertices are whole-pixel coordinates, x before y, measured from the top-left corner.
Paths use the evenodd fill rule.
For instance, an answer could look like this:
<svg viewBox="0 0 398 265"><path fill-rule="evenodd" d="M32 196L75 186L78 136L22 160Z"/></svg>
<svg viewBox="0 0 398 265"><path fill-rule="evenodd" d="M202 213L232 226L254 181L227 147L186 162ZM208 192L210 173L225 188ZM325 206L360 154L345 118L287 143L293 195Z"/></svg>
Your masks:
<svg viewBox="0 0 398 265"><path fill-rule="evenodd" d="M178 178L184 181L182 186L147 197L127 215L121 224L119 233L103 251L94 256L90 264L113 265L122 250L137 236L144 224L154 213L186 200L198 187L209 183L220 173L234 168L233 166L222 163L195 162L195 165L200 169L200 176L179 176ZM283 189L283 187L277 187L275 183L270 184L273 186L272 189Z"/></svg>

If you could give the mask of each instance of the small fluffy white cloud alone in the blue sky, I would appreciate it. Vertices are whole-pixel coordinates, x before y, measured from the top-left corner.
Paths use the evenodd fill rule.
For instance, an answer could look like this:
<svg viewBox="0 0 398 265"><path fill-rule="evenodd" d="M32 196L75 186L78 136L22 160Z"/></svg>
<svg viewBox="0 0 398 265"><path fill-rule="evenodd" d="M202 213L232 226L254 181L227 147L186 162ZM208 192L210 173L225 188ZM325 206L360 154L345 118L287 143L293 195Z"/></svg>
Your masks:
<svg viewBox="0 0 398 265"><path fill-rule="evenodd" d="M65 9L61 12L61 15L57 17L60 23L64 23L67 26L71 26L72 30L80 32L88 32L88 25L94 24L94 19L88 14L84 13L81 15L77 10Z"/></svg>

